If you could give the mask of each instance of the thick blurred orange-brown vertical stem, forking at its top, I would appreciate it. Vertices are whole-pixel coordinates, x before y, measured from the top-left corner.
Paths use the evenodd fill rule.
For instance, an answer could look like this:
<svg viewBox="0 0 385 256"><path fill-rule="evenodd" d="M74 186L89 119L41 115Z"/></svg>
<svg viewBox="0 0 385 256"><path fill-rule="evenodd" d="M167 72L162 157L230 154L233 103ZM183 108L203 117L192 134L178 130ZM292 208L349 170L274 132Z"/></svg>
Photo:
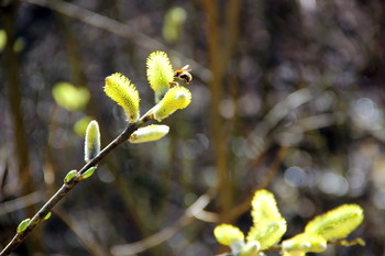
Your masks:
<svg viewBox="0 0 385 256"><path fill-rule="evenodd" d="M216 1L201 0L201 5L207 15L207 42L209 52L209 66L212 71L212 79L209 82L211 92L210 121L211 135L213 141L218 208L221 222L226 221L227 212L231 208L232 191L229 179L227 137L223 129L223 119L219 113L219 104L223 93L223 75L229 65L233 48L237 43L239 27L240 0L230 0L227 7L227 26L219 24L219 5Z"/></svg>

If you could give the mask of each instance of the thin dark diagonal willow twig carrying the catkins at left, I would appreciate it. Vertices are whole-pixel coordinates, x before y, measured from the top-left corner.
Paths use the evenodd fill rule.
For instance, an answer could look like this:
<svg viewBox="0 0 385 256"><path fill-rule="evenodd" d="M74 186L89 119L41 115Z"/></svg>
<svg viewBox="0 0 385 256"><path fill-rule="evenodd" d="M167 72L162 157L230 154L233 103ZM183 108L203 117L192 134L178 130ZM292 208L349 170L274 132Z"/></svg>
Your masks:
<svg viewBox="0 0 385 256"><path fill-rule="evenodd" d="M78 170L77 175L81 176L89 168L97 166L109 153L111 153L120 144L129 140L133 132L135 132L140 126L142 126L145 122L150 121L151 119L151 115L144 115L136 123L130 124L94 159L91 159L85 166L82 166L81 169ZM78 182L78 179L72 179L70 181L63 183L63 186L57 190L57 192L54 196L52 196L52 198L31 219L29 226L23 232L16 233L13 236L12 241L0 253L0 256L9 255L11 252L13 252L26 238L26 236L44 220L44 218L56 205L56 203L59 202Z"/></svg>

